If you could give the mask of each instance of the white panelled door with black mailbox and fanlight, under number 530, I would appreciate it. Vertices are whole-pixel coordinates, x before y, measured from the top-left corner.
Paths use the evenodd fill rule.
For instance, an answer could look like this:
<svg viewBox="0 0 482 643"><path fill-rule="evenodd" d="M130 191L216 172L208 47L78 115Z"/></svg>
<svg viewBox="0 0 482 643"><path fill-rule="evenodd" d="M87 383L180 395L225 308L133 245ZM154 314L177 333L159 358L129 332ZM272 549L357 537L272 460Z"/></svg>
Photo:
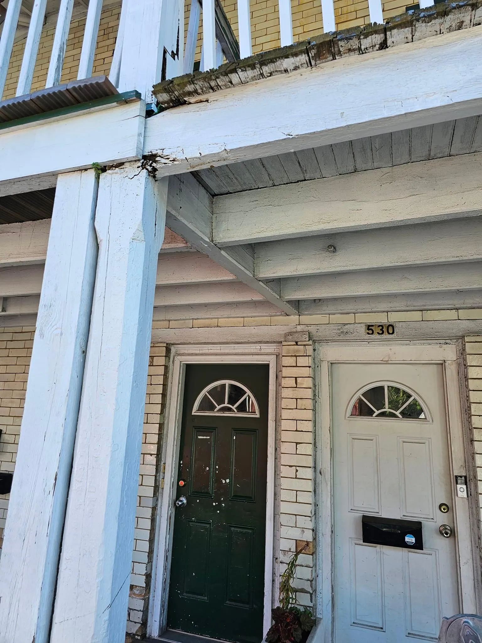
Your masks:
<svg viewBox="0 0 482 643"><path fill-rule="evenodd" d="M442 366L335 364L332 404L335 643L437 640L459 612ZM424 550L363 543L362 514L422 521Z"/></svg>

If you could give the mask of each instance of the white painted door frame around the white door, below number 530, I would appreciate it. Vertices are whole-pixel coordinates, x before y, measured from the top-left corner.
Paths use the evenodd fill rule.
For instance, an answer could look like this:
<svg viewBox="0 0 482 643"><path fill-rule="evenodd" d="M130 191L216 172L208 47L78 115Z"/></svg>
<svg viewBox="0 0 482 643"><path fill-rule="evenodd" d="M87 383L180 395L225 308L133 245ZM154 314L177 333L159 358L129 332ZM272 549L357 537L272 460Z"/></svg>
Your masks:
<svg viewBox="0 0 482 643"><path fill-rule="evenodd" d="M314 401L316 447L316 606L317 616L325 625L321 628L321 643L334 641L334 505L332 464L332 390L333 363L439 363L443 367L447 440L451 480L454 475L467 475L470 453L464 442L464 432L470 431L463 420L461 407L458 352L455 343L377 342L373 343L316 343L314 345ZM452 482L452 506L456 539L456 561L461 610L477 613L480 597L474 574L478 564L475 555L479 539L478 516L472 516L469 502L457 498Z"/></svg>

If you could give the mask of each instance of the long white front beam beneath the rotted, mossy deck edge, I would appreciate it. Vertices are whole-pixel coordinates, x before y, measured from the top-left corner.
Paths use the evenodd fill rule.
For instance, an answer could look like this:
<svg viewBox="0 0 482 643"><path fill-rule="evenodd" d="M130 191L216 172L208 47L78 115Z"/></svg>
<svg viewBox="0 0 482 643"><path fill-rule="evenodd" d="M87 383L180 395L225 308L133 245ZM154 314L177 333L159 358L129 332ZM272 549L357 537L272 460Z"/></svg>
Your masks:
<svg viewBox="0 0 482 643"><path fill-rule="evenodd" d="M464 29L211 93L149 118L144 152L159 155L161 174L178 174L480 114L482 67L472 61L481 34Z"/></svg>

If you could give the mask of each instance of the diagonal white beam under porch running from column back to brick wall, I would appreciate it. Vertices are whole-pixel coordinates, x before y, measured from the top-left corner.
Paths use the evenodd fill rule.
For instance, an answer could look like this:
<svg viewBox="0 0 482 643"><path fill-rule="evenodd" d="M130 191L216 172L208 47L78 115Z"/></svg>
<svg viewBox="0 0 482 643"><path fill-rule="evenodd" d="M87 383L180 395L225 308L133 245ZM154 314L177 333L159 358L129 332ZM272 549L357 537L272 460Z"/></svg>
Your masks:
<svg viewBox="0 0 482 643"><path fill-rule="evenodd" d="M229 251L212 242L213 206L211 196L190 175L170 179L166 221L169 228L224 267L240 281L262 294L281 311L296 313L296 307L280 299L279 282L265 284L254 277L254 257L249 246L237 246ZM276 289L278 293L276 293Z"/></svg>

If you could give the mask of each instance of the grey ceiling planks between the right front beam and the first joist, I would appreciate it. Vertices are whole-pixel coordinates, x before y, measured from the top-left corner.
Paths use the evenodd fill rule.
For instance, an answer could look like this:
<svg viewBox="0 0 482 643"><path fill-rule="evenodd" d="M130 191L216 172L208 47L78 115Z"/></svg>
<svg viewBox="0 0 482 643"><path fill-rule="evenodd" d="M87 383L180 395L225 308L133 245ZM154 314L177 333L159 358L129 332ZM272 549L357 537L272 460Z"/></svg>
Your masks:
<svg viewBox="0 0 482 643"><path fill-rule="evenodd" d="M219 165L192 174L211 195L217 196L481 150L482 118L469 116L277 156Z"/></svg>

